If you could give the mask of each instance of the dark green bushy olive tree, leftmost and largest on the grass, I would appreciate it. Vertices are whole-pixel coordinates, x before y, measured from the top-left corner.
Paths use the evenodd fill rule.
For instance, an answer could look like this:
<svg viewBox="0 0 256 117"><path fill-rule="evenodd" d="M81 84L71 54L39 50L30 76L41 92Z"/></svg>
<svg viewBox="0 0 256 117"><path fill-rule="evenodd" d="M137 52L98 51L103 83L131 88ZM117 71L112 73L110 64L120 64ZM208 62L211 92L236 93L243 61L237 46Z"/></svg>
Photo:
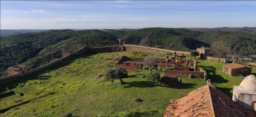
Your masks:
<svg viewBox="0 0 256 117"><path fill-rule="evenodd" d="M125 68L117 66L116 68L110 68L105 72L105 79L114 82L115 79L120 79L119 85L126 84L122 78L128 78L128 73Z"/></svg>

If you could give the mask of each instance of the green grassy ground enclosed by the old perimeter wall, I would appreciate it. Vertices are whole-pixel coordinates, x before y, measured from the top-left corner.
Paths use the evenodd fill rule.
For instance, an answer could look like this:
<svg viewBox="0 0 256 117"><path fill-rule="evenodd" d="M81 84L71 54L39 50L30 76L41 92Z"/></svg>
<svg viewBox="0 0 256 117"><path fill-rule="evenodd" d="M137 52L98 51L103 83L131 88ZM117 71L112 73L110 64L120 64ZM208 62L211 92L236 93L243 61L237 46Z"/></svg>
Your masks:
<svg viewBox="0 0 256 117"><path fill-rule="evenodd" d="M73 57L61 65L45 71L26 76L10 84L1 85L1 117L7 116L62 116L67 112L73 116L163 116L170 99L179 99L187 93L206 85L200 78L182 78L180 86L150 87L151 82L141 75L148 74L148 68L138 72L128 72L129 77L123 81L127 84L118 86L104 81L108 68L113 68L114 57L121 54L128 57L145 57L146 53L114 52L87 53ZM151 54L156 56L155 54ZM214 60L198 60L206 70L207 78L213 85L232 96L233 85L239 85L241 78L219 72L223 63ZM153 70L156 70L154 68ZM163 69L156 70L163 75ZM253 68L255 74L255 68ZM40 79L38 78L40 76ZM24 93L17 96L14 92ZM140 98L142 102L133 102ZM153 99L154 101L149 101Z"/></svg>

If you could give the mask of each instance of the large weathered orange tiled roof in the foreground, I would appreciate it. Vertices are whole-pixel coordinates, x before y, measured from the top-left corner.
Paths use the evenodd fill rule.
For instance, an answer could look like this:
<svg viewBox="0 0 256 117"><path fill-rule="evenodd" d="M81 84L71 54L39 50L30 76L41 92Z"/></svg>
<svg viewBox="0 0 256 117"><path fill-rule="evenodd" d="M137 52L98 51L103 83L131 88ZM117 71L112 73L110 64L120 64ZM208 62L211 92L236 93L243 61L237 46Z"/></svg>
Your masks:
<svg viewBox="0 0 256 117"><path fill-rule="evenodd" d="M223 92L211 87L198 88L181 99L170 100L164 117L255 117L239 107Z"/></svg>

